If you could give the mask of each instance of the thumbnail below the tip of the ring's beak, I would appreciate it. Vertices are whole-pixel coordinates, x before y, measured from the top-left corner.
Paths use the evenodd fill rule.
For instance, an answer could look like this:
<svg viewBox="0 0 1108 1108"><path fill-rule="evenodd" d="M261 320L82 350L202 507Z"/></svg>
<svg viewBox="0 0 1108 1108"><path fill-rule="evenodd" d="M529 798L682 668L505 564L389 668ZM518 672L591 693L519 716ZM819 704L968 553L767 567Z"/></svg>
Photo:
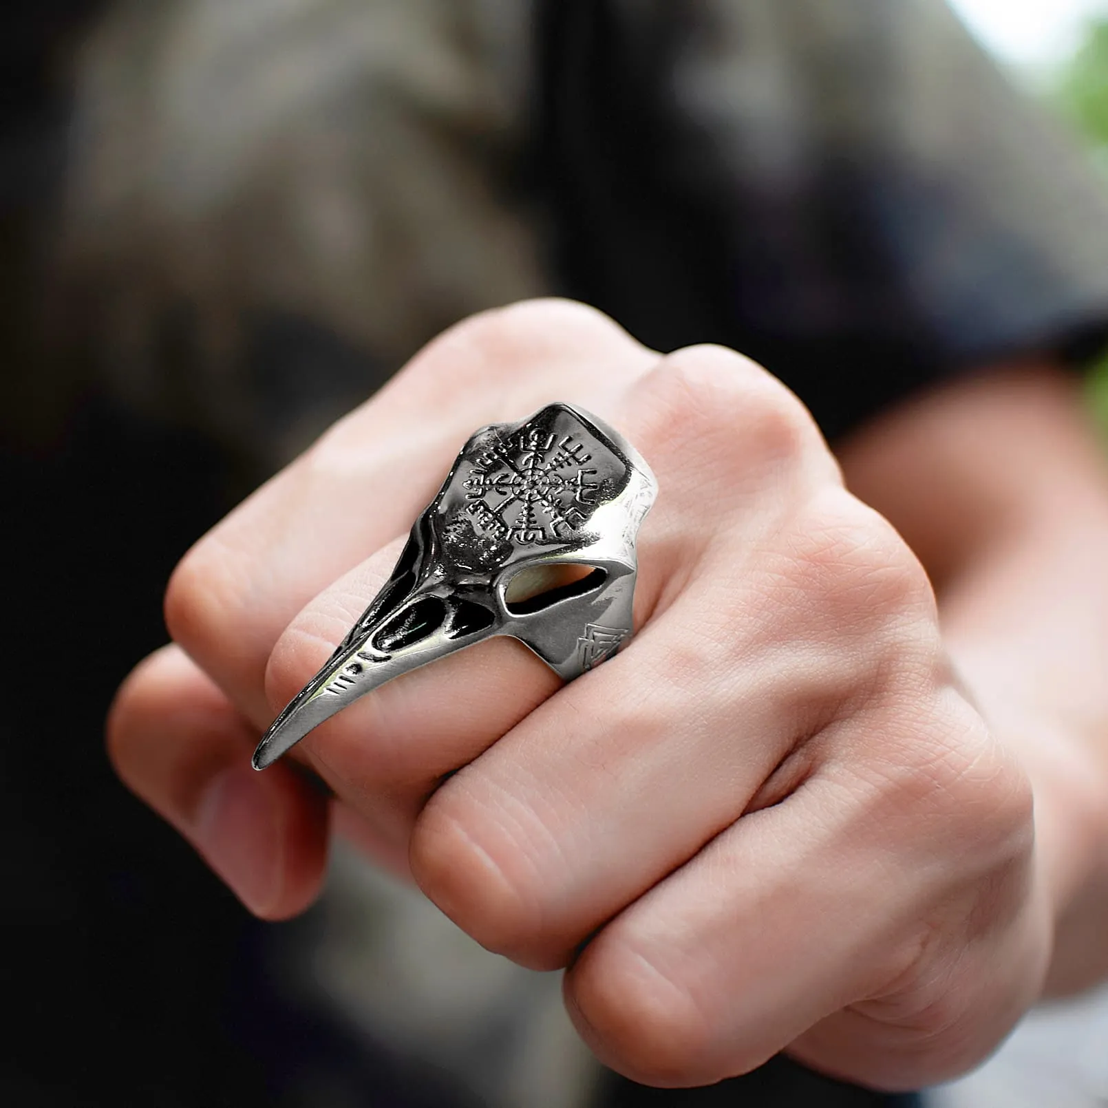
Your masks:
<svg viewBox="0 0 1108 1108"><path fill-rule="evenodd" d="M195 840L208 865L256 915L280 892L280 830L267 782L249 766L224 770L197 809Z"/></svg>

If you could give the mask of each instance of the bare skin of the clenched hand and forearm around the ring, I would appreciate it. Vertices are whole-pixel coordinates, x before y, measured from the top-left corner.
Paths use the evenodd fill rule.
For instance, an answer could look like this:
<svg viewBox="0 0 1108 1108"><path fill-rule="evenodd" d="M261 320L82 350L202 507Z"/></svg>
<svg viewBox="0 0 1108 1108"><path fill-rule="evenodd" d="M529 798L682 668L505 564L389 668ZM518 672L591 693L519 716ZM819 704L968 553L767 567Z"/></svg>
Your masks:
<svg viewBox="0 0 1108 1108"><path fill-rule="evenodd" d="M481 644L250 770L466 435L552 400L660 484L632 643L564 687ZM582 1036L637 1080L787 1048L919 1087L1108 968L1106 552L1104 459L1048 367L917 400L837 461L733 352L521 305L437 340L186 555L174 645L109 749L258 915L308 905L348 834L490 950L565 967Z"/></svg>

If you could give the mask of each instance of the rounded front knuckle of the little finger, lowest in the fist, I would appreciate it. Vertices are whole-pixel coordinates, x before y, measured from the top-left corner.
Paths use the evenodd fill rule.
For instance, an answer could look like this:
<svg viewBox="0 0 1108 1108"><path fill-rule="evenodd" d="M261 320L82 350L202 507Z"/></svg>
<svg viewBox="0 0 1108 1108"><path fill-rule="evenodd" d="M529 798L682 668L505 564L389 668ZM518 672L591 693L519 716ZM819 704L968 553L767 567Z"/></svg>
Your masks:
<svg viewBox="0 0 1108 1108"><path fill-rule="evenodd" d="M570 972L566 999L602 1060L646 1085L706 1084L712 1023L688 989L630 943L602 933Z"/></svg>

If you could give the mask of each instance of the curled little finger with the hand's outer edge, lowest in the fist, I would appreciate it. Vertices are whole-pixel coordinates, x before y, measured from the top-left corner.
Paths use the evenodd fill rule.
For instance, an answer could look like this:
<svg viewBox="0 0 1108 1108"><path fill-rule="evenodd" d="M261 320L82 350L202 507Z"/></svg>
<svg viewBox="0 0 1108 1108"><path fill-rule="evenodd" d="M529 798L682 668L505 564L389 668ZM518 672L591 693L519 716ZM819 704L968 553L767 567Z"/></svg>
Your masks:
<svg viewBox="0 0 1108 1108"><path fill-rule="evenodd" d="M592 940L565 987L602 1060L652 1085L702 1085L791 1047L903 1089L953 1076L1003 1037L1048 948L1027 895L1029 793L961 697L933 694L961 749L921 757L905 732L900 765L861 773L834 749L886 743L889 718L844 721L799 789ZM995 801L987 825L962 803L974 778Z"/></svg>

